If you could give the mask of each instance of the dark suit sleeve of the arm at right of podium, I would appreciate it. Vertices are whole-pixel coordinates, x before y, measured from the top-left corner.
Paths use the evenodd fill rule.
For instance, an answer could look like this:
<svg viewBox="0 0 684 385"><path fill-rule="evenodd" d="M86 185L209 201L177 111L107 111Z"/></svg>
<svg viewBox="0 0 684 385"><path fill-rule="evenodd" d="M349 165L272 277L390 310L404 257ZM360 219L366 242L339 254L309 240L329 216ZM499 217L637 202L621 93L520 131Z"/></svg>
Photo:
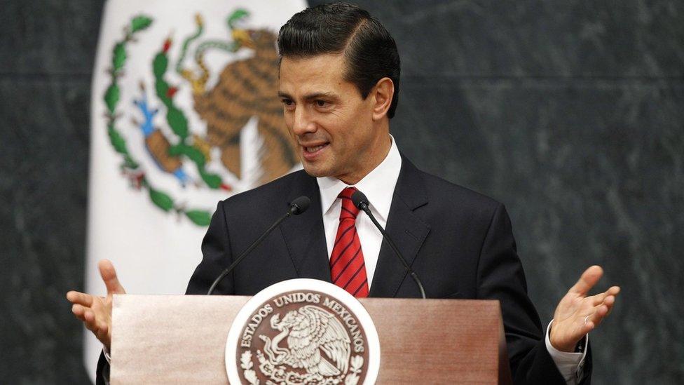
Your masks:
<svg viewBox="0 0 684 385"><path fill-rule="evenodd" d="M527 295L511 221L501 204L481 248L477 297L500 301L514 384L566 384L546 349L538 313ZM587 379L590 366L584 373Z"/></svg>

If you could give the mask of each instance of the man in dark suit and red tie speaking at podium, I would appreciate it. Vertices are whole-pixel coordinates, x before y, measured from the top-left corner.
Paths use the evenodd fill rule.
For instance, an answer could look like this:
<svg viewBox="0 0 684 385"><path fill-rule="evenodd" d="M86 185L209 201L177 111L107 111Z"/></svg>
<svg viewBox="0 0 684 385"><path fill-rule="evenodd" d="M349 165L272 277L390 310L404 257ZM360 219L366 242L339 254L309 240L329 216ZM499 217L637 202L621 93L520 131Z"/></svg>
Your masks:
<svg viewBox="0 0 684 385"><path fill-rule="evenodd" d="M219 203L187 292L204 294L294 198L308 196L310 209L283 222L217 292L254 295L286 279L317 278L357 297L419 297L379 231L349 203L359 189L428 297L500 301L515 383L588 382L587 333L620 289L588 297L602 274L591 266L542 332L504 206L423 173L399 153L389 124L399 55L383 25L355 6L318 6L282 27L278 48L278 93L304 170ZM67 297L107 351L111 294L124 291L111 263L101 262L100 270L108 297ZM107 370L104 356L98 366Z"/></svg>

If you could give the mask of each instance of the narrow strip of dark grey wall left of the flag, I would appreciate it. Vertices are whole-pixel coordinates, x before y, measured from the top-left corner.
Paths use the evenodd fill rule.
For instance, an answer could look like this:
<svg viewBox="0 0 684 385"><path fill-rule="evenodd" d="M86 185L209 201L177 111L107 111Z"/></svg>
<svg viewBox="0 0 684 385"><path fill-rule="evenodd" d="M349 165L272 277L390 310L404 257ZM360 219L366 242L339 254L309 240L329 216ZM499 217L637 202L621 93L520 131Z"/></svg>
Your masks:
<svg viewBox="0 0 684 385"><path fill-rule="evenodd" d="M90 74L102 2L0 2L0 383L85 384Z"/></svg>

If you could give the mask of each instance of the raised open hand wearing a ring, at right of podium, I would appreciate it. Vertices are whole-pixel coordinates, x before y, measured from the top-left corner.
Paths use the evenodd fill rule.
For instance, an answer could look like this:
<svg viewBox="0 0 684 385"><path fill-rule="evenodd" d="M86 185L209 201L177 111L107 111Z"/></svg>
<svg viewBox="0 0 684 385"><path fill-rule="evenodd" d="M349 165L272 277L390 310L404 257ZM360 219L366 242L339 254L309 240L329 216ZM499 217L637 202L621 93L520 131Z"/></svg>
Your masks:
<svg viewBox="0 0 684 385"><path fill-rule="evenodd" d="M603 276L601 266L591 266L585 270L568 294L561 299L551 326L549 339L559 351L575 351L575 346L588 332L594 330L613 309L615 297L620 292L613 286L605 292L587 297L589 290Z"/></svg>

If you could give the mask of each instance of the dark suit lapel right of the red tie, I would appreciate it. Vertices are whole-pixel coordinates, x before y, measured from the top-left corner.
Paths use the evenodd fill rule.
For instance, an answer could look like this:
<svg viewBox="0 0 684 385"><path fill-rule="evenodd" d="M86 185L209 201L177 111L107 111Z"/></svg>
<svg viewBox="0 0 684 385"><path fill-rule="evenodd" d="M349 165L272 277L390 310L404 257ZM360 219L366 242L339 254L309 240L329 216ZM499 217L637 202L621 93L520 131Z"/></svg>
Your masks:
<svg viewBox="0 0 684 385"><path fill-rule="evenodd" d="M402 154L402 170L399 173L397 187L395 187L392 196L392 205L390 206L385 231L397 244L397 248L404 255L409 266L413 264L418 250L430 232L430 226L413 212L425 204L427 204L427 194L423 188L420 171ZM394 255L390 246L383 241L369 296L395 297L402 282L407 279L406 275L402 262ZM411 284L413 283L411 282ZM415 292L416 297L420 296L417 287Z"/></svg>

